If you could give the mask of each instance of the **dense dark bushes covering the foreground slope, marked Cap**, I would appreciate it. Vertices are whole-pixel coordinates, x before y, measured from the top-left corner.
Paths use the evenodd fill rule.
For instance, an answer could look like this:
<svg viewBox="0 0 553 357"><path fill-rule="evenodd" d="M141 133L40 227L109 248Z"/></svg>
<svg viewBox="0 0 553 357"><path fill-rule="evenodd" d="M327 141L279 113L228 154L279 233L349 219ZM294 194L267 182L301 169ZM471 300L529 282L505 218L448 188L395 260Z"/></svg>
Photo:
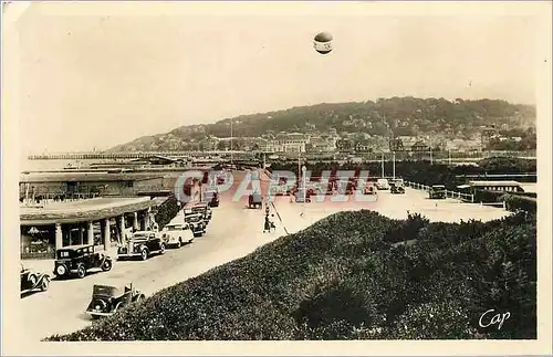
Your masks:
<svg viewBox="0 0 553 357"><path fill-rule="evenodd" d="M342 212L49 340L536 338L535 282L534 216Z"/></svg>

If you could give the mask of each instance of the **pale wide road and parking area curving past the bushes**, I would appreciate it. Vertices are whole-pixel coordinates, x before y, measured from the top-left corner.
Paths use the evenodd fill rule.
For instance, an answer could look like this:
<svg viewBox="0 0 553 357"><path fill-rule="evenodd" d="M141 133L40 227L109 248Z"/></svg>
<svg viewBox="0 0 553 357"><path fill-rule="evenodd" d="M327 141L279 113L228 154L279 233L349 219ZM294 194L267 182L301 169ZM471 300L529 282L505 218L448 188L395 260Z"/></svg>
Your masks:
<svg viewBox="0 0 553 357"><path fill-rule="evenodd" d="M240 175L234 175L234 188ZM267 190L268 178L262 176L262 190ZM490 220L505 214L498 208L459 203L447 199L426 199L426 192L410 188L405 195L380 191L376 202L290 202L289 197L274 201L282 222L275 214L276 231L263 233L264 210L247 209L247 197L232 202L231 193L221 195L221 204L213 209L208 232L180 249L168 249L164 255L146 261L114 261L109 272L91 274L82 280L52 281L49 291L35 293L20 300L20 312L24 333L22 342L38 342L52 334L65 334L91 324L84 309L90 303L94 284L135 287L150 295L164 287L199 275L217 265L247 255L255 248L284 234L284 228L296 232L313 222L337 211L374 209L390 218L404 219L407 210L420 212L430 220L459 221L470 218ZM303 214L302 214L303 213ZM112 254L112 256L115 256ZM53 261L25 261L25 265L51 273Z"/></svg>

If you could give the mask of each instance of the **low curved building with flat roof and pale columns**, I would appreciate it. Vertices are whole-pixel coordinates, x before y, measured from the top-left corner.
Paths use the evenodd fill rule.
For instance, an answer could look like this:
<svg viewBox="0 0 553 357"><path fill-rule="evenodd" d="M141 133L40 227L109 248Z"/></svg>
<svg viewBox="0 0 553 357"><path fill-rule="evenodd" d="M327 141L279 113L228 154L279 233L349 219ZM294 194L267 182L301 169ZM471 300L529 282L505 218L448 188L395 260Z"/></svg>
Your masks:
<svg viewBox="0 0 553 357"><path fill-rule="evenodd" d="M55 250L94 244L108 250L128 229L146 230L165 199L94 198L20 207L21 258L53 258Z"/></svg>

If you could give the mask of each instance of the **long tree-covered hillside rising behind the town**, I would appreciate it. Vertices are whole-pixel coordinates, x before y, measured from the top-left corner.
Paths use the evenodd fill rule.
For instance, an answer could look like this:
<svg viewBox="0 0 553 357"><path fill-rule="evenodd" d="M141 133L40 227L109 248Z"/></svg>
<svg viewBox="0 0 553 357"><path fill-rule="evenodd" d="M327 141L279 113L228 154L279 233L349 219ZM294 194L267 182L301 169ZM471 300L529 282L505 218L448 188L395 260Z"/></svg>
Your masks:
<svg viewBox="0 0 553 357"><path fill-rule="evenodd" d="M184 122L187 118L182 118ZM213 124L181 126L169 133L138 138L109 151L179 150L190 140L208 136L229 137L230 120L233 135L260 137L279 132L368 133L396 136L419 133L447 134L451 138L469 137L481 126L512 128L535 127L535 107L514 105L504 101L447 101L445 98L393 97L376 102L324 103L285 111L241 115ZM389 129L388 129L389 127Z"/></svg>

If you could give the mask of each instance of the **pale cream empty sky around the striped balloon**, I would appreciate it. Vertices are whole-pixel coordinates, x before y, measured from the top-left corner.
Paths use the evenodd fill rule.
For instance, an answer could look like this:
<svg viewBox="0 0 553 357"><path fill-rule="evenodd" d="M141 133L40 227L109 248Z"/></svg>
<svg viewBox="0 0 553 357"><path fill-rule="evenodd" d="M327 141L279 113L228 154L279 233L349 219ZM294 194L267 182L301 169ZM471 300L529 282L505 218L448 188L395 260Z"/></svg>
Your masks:
<svg viewBox="0 0 553 357"><path fill-rule="evenodd" d="M532 17L301 7L32 4L15 23L22 153L106 149L323 102L535 103ZM334 36L328 55L313 49L321 31Z"/></svg>

